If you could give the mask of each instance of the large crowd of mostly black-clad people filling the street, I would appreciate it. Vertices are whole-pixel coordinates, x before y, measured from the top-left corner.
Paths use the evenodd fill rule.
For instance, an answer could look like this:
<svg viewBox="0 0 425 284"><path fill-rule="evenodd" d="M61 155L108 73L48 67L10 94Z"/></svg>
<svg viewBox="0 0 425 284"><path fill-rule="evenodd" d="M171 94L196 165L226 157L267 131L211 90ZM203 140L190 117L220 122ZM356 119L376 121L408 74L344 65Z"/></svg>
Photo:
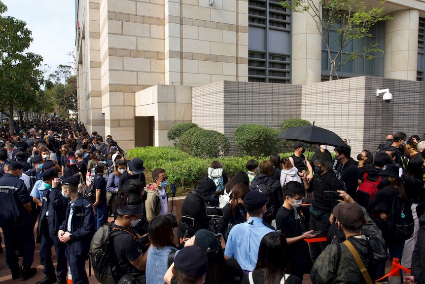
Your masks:
<svg viewBox="0 0 425 284"><path fill-rule="evenodd" d="M425 141L397 132L383 142L356 160L349 144L332 159L329 146L310 157L296 142L289 158L249 160L234 176L214 161L177 220L166 170L146 184L143 161L127 161L111 136L57 118L16 122L0 136L6 264L12 279L33 277L37 242L45 277L36 284L67 283L68 266L73 284L87 284L107 227L112 269L102 274L118 284L300 284L305 274L370 284L387 280L394 258L411 268L405 282L422 284ZM95 275L100 258L90 258Z"/></svg>

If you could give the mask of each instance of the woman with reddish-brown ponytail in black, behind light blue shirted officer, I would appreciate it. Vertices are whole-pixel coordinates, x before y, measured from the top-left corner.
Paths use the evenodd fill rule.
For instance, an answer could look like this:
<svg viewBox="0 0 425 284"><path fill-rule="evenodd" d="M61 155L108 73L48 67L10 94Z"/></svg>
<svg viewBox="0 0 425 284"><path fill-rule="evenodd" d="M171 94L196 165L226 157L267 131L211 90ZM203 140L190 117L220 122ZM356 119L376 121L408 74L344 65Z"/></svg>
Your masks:
<svg viewBox="0 0 425 284"><path fill-rule="evenodd" d="M247 211L242 205L249 187L243 183L236 184L232 189L232 199L223 207L223 217L217 221L217 232L227 241L230 229L234 225L247 221Z"/></svg>

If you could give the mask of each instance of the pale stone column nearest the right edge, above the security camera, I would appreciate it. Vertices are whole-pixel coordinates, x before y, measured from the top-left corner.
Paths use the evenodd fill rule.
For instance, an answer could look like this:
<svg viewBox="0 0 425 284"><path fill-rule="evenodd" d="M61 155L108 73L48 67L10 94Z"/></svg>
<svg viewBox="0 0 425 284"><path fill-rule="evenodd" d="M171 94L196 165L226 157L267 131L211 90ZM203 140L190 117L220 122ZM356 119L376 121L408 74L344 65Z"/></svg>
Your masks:
<svg viewBox="0 0 425 284"><path fill-rule="evenodd" d="M400 10L385 22L384 78L416 81L419 11Z"/></svg>

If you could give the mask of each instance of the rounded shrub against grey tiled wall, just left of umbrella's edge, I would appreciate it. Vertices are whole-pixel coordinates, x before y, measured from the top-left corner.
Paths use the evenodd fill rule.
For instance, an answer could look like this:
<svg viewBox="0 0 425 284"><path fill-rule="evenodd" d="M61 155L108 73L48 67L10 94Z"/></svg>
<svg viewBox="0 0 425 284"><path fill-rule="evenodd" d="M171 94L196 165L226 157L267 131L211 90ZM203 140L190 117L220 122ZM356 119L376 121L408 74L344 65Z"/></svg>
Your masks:
<svg viewBox="0 0 425 284"><path fill-rule="evenodd" d="M236 128L233 140L245 155L269 156L282 150L282 140L276 138L279 131L257 124L243 124Z"/></svg>

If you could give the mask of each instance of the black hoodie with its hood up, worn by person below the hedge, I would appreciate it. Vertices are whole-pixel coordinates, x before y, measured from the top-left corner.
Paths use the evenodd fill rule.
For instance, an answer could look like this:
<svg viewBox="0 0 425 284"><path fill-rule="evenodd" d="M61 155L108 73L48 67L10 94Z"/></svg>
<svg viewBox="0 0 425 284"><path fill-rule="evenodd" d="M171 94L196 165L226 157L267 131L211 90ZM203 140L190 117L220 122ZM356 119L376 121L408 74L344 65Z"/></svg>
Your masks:
<svg viewBox="0 0 425 284"><path fill-rule="evenodd" d="M216 186L212 179L208 177L202 178L196 188L189 192L183 204L181 205L181 216L192 217L194 219L194 227L188 226L187 235L192 237L199 229L207 229L210 219L205 213L205 203L210 200L215 193ZM177 236L181 239L186 232L186 226L178 221Z"/></svg>

